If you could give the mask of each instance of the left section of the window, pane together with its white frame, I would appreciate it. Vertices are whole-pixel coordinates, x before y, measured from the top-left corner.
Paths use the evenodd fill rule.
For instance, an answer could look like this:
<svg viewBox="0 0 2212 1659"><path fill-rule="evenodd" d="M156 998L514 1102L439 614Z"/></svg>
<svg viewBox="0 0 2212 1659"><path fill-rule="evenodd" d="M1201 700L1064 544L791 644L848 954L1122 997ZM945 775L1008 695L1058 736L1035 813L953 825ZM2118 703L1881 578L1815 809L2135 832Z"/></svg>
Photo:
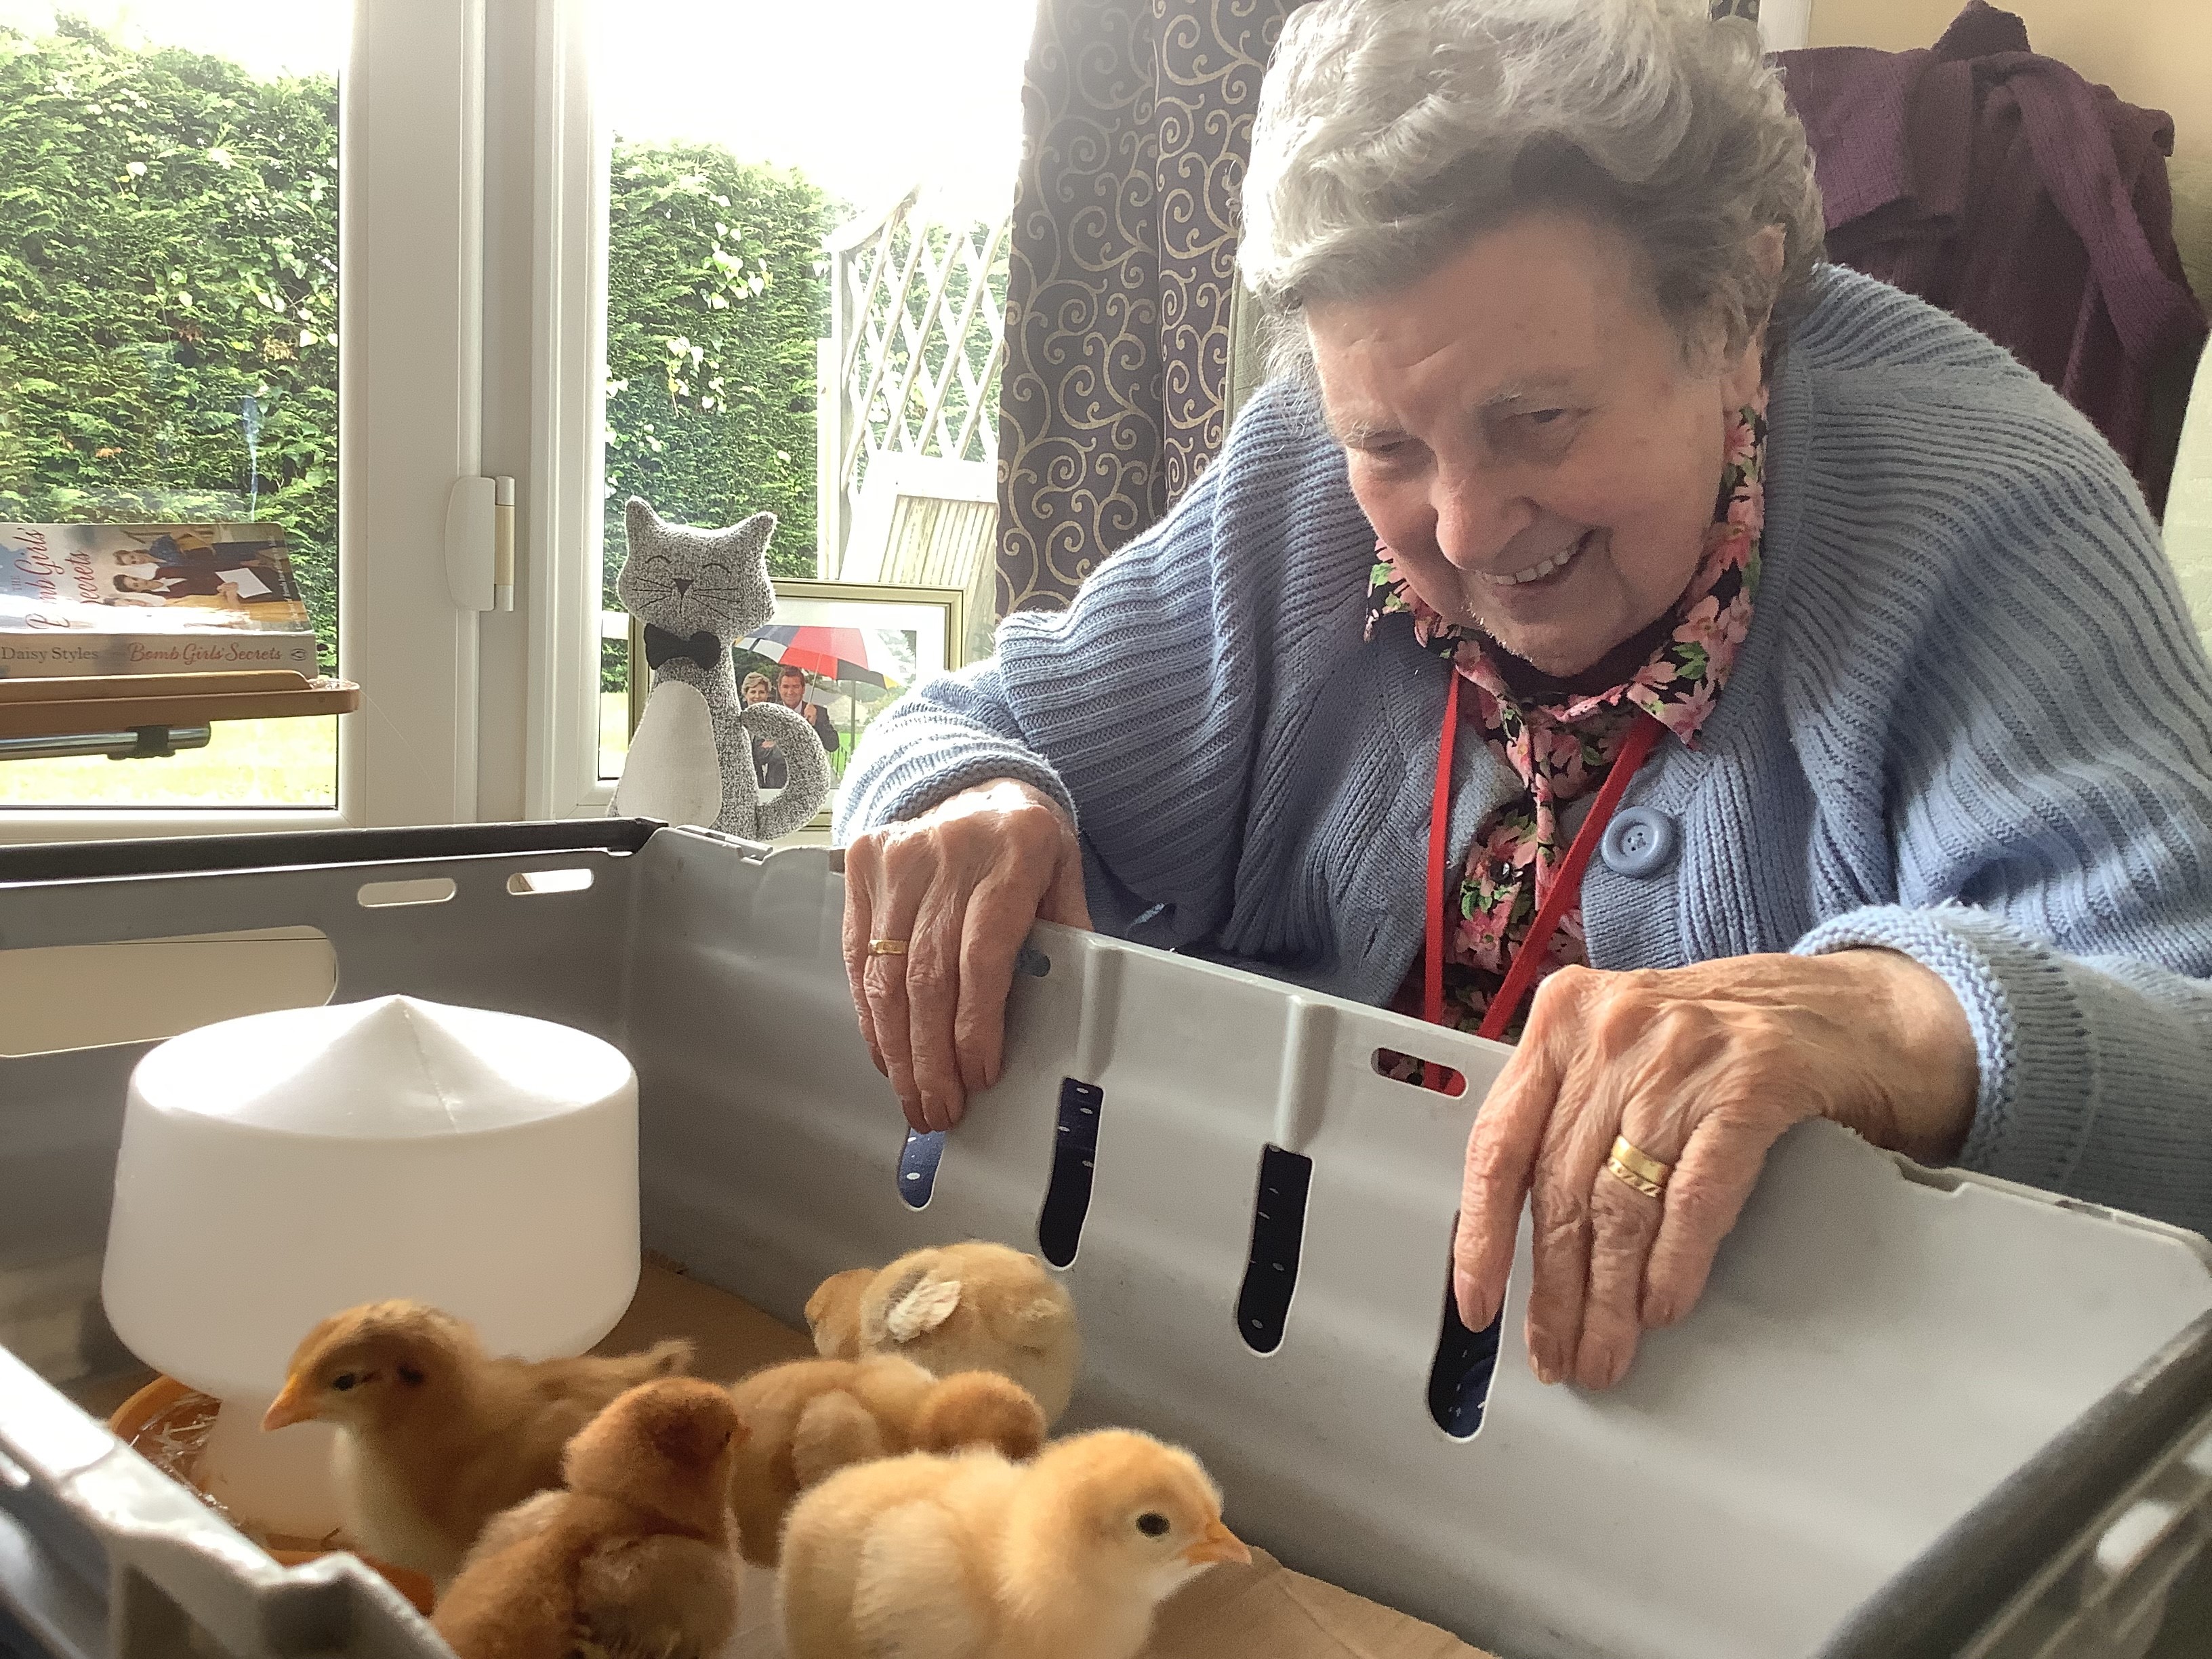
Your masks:
<svg viewBox="0 0 2212 1659"><path fill-rule="evenodd" d="M480 106L471 7L0 0L0 520L276 524L321 664L374 688L0 761L0 838L476 814L438 526L478 467Z"/></svg>

